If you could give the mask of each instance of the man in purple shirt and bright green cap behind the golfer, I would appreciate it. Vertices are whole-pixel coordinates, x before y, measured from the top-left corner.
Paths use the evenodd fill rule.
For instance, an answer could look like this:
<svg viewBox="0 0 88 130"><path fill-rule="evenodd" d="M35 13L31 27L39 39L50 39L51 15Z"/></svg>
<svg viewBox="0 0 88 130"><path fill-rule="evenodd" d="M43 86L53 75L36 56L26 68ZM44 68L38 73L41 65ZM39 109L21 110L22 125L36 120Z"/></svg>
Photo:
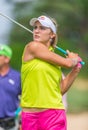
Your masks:
<svg viewBox="0 0 88 130"><path fill-rule="evenodd" d="M0 44L0 130L17 130L15 112L21 95L20 72L10 67L12 50Z"/></svg>

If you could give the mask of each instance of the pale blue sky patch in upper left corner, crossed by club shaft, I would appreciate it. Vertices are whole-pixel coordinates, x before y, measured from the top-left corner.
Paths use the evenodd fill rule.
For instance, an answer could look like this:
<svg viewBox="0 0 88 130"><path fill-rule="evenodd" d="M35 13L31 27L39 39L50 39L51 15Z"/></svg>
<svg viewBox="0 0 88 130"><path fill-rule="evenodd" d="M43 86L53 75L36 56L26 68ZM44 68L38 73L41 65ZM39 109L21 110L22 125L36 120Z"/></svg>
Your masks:
<svg viewBox="0 0 88 130"><path fill-rule="evenodd" d="M12 5L5 0L0 0L0 13L12 16ZM0 15L0 43L7 44L11 22Z"/></svg>

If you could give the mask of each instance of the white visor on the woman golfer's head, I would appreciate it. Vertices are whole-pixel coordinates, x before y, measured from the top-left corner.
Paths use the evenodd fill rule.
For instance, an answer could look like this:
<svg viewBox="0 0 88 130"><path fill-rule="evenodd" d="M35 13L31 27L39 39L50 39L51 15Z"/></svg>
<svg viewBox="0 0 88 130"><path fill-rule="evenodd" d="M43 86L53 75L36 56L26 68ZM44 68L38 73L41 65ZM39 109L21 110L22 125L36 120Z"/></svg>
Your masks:
<svg viewBox="0 0 88 130"><path fill-rule="evenodd" d="M32 18L30 20L30 25L34 26L35 22L39 21L43 26L51 28L51 30L56 34L56 27L54 23L46 16L40 16L38 18Z"/></svg>

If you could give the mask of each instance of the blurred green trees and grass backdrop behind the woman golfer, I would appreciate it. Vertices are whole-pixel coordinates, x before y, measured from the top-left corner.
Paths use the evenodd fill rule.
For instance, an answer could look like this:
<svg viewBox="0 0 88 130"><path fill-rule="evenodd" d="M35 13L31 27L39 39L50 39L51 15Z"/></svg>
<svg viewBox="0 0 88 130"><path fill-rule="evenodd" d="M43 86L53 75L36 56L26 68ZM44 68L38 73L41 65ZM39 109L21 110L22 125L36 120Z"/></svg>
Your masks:
<svg viewBox="0 0 88 130"><path fill-rule="evenodd" d="M6 0L14 6L13 19L31 29L29 20L46 14L57 20L58 46L77 52L85 61L77 82L68 92L68 111L88 110L88 0ZM9 21L7 21L9 22ZM13 23L9 33L9 45L13 50L11 66L20 71L24 46L32 40L32 34ZM56 50L56 53L62 55ZM64 55L63 55L64 56ZM63 69L67 74L69 71ZM81 86L81 87L80 87ZM82 89L83 88L83 89Z"/></svg>

